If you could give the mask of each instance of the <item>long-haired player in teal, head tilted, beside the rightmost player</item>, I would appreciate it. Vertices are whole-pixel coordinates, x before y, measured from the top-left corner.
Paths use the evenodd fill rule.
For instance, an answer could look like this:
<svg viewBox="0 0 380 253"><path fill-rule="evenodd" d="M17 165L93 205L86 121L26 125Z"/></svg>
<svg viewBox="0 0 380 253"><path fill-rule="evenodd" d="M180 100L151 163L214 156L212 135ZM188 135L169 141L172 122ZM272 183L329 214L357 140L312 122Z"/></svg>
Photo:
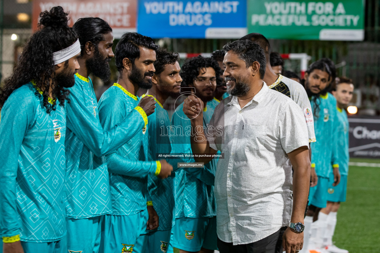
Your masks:
<svg viewBox="0 0 380 253"><path fill-rule="evenodd" d="M305 73L304 86L310 97L313 115L315 115L315 137L312 143L312 167L318 176L317 185L310 187L309 210L305 217L305 225L311 224L309 238L305 233L304 246L309 250L323 251L321 234L326 228L327 215L319 212L326 207L329 176L333 173L334 185L340 181L337 136L335 131L339 126L337 119L336 99L327 92L335 73L329 61L321 59L312 63ZM314 221L314 222L313 222ZM313 223L312 223L313 222ZM309 244L309 245L307 245Z"/></svg>

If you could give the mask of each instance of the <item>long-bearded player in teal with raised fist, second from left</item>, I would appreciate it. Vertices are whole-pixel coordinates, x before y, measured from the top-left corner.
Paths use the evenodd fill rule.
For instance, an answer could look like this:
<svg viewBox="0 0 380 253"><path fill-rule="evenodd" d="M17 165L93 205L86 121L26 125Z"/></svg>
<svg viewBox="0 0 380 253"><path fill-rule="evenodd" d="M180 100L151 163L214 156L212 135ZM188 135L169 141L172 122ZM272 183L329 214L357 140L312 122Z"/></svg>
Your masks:
<svg viewBox="0 0 380 253"><path fill-rule="evenodd" d="M103 130L98 103L89 74L109 78L113 34L97 17L76 21L73 29L81 44L80 71L70 88L67 105L65 206L68 250L98 252L101 221L111 211L109 176L105 155L120 148L144 127L154 112L154 99L141 100L125 118Z"/></svg>

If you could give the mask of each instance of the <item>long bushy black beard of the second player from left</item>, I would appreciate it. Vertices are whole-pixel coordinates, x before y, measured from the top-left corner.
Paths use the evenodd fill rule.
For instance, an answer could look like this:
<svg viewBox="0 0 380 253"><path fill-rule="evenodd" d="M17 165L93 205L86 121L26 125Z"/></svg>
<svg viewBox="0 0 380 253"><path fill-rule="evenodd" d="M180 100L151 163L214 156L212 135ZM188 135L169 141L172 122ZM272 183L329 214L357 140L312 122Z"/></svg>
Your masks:
<svg viewBox="0 0 380 253"><path fill-rule="evenodd" d="M98 47L95 47L94 56L86 61L86 67L93 75L99 77L103 82L107 82L111 76L109 62L111 58L105 59L100 55Z"/></svg>

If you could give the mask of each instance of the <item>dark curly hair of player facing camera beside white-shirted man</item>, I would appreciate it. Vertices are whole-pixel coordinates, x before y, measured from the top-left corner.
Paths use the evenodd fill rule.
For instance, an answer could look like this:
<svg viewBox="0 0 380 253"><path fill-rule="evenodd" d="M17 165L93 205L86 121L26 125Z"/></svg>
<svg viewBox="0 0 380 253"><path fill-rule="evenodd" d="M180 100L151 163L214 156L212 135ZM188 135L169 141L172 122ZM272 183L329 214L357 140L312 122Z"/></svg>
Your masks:
<svg viewBox="0 0 380 253"><path fill-rule="evenodd" d="M199 71L202 68L213 68L216 75L216 85L222 85L222 78L220 75L223 74L222 69L219 67L217 61L212 60L211 58L205 58L201 55L197 57L189 58L182 65L180 75L182 77L181 86L192 85L196 77L200 74Z"/></svg>

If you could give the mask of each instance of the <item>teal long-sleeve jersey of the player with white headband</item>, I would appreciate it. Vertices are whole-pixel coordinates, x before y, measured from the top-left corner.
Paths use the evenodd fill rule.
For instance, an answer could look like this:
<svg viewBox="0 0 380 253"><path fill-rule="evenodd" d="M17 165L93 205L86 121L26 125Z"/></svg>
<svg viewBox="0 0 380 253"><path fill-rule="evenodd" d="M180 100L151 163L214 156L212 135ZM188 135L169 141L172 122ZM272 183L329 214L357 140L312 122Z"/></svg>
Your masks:
<svg viewBox="0 0 380 253"><path fill-rule="evenodd" d="M66 103L65 103L66 104ZM46 113L32 83L6 100L0 120L0 231L24 242L52 242L66 234L65 108Z"/></svg>

